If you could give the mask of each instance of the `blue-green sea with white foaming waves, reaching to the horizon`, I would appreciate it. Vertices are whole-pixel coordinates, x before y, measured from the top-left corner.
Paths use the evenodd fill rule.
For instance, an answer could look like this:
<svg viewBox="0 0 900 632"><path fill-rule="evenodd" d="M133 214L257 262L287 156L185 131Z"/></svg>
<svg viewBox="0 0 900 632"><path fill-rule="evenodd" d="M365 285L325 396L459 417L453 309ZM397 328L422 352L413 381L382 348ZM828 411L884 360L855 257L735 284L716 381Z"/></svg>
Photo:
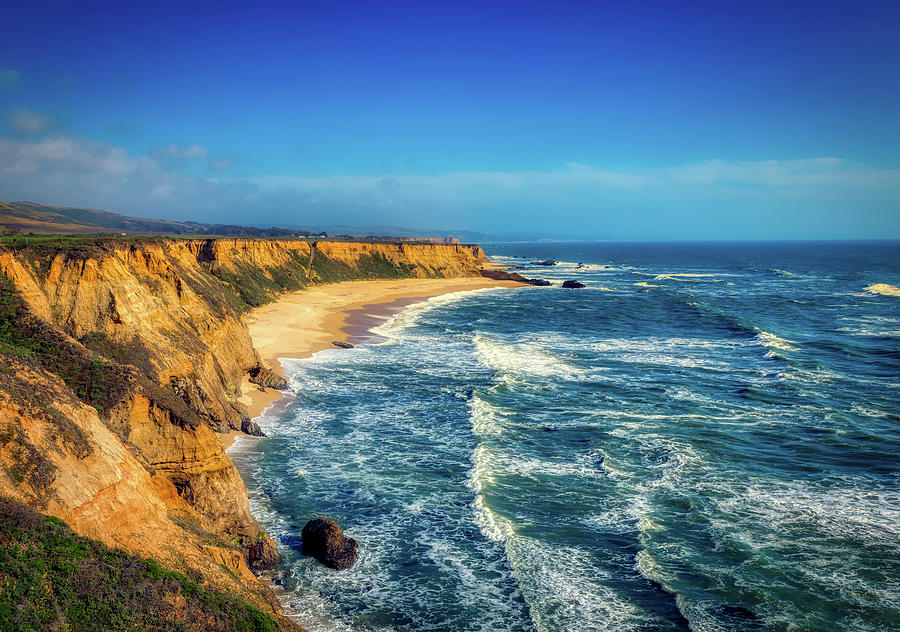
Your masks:
<svg viewBox="0 0 900 632"><path fill-rule="evenodd" d="M293 401L229 453L281 543L288 613L311 631L898 627L900 297L864 288L900 286L900 245L487 250L588 287L439 297L379 344L289 361ZM360 542L349 571L299 553L317 516Z"/></svg>

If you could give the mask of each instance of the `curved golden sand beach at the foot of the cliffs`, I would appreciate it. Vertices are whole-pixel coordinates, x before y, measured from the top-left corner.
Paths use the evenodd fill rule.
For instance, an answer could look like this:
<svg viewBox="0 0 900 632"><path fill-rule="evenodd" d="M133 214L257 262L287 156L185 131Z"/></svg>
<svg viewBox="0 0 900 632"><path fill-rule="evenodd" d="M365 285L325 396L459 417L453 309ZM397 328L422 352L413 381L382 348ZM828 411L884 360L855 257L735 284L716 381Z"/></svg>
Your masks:
<svg viewBox="0 0 900 632"><path fill-rule="evenodd" d="M488 287L522 285L486 278L345 281L285 294L274 303L254 309L244 321L263 366L284 375L279 358L308 358L317 351L335 348L334 341L371 341L377 338L369 331L372 327L411 303ZM247 405L251 418L281 398L280 391L263 391L244 376L240 401ZM228 448L240 434L220 434L219 440Z"/></svg>

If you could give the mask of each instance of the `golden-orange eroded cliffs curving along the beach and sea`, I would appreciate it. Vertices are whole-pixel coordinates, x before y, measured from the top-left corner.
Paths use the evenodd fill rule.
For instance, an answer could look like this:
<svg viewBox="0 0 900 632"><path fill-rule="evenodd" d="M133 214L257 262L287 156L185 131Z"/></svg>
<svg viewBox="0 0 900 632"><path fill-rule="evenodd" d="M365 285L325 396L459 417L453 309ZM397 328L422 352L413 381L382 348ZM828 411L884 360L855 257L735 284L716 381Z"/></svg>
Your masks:
<svg viewBox="0 0 900 632"><path fill-rule="evenodd" d="M278 561L214 432L259 434L242 314L350 279L461 277L477 246L260 239L0 247L0 494L76 533L201 571L277 611Z"/></svg>

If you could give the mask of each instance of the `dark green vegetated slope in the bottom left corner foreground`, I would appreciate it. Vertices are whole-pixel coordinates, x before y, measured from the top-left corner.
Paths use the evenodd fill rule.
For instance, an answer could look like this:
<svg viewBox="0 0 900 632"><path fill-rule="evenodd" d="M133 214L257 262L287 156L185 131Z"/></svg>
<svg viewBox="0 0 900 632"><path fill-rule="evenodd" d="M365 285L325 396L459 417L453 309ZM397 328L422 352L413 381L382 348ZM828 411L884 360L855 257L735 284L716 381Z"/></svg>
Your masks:
<svg viewBox="0 0 900 632"><path fill-rule="evenodd" d="M271 615L0 497L0 632L271 631Z"/></svg>

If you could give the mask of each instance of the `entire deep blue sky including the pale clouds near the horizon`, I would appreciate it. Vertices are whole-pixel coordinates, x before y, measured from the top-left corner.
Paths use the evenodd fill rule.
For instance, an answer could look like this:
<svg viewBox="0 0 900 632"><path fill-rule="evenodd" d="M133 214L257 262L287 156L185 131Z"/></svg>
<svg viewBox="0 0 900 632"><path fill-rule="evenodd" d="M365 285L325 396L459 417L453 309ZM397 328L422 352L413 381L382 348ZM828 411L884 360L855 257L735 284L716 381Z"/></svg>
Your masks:
<svg viewBox="0 0 900 632"><path fill-rule="evenodd" d="M0 199L617 239L900 237L900 5L32 2Z"/></svg>

